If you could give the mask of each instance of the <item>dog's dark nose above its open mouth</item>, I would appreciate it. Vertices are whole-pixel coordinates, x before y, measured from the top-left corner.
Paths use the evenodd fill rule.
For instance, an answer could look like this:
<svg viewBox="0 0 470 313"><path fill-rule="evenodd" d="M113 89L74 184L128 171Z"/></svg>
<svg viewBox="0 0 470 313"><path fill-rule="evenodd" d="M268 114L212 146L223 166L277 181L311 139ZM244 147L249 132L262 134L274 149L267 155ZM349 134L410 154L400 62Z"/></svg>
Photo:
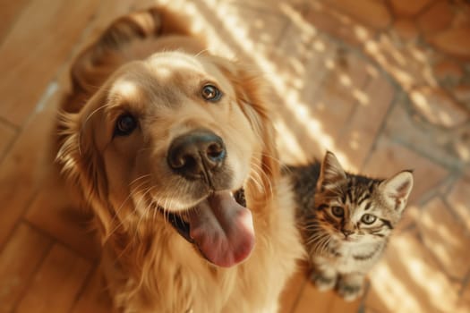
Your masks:
<svg viewBox="0 0 470 313"><path fill-rule="evenodd" d="M176 173L190 179L206 178L226 158L224 141L211 131L192 131L173 140L167 162Z"/></svg>

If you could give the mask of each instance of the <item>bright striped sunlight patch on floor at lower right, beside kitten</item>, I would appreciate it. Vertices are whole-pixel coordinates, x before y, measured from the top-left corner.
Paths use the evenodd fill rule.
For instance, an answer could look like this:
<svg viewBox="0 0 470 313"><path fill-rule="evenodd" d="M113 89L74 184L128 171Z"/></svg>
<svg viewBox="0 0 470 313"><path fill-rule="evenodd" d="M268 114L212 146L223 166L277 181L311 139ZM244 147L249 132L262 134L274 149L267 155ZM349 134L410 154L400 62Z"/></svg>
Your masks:
<svg viewBox="0 0 470 313"><path fill-rule="evenodd" d="M423 254L431 258L412 234L394 238L385 259L370 276L371 296L379 298L376 301L389 311L449 311L449 303L457 301L457 294L451 292L456 286L435 270L432 259L423 259Z"/></svg>

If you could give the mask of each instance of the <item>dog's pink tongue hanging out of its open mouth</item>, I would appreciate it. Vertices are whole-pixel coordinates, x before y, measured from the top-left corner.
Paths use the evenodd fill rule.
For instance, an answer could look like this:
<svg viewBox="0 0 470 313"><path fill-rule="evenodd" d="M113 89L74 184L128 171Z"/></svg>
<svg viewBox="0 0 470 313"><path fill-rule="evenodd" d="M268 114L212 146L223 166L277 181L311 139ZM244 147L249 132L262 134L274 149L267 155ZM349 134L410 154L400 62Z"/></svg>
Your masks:
<svg viewBox="0 0 470 313"><path fill-rule="evenodd" d="M213 194L189 216L190 236L201 253L217 266L235 266L254 246L252 213L228 191Z"/></svg>

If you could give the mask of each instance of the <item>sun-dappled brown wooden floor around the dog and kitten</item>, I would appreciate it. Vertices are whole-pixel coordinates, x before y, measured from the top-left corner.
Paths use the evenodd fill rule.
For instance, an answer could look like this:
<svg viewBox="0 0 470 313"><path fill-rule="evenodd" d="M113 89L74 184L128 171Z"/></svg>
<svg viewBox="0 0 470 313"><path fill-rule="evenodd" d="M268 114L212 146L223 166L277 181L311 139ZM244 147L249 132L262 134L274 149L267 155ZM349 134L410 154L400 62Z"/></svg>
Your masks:
<svg viewBox="0 0 470 313"><path fill-rule="evenodd" d="M414 20L406 29L394 11L424 3L419 14L428 16L432 0L167 2L194 17L213 49L265 72L285 161L329 148L353 171L414 168L406 217L363 299L318 292L301 271L281 311L469 312L470 106L448 89L470 83L467 46L461 40L456 50L444 35L430 48L406 41ZM109 311L98 246L49 173L47 140L73 56L115 17L156 3L163 1L0 0L0 312ZM458 25L467 25L462 12ZM454 63L444 71L454 85L427 70L441 59ZM441 86L459 102L434 96Z"/></svg>

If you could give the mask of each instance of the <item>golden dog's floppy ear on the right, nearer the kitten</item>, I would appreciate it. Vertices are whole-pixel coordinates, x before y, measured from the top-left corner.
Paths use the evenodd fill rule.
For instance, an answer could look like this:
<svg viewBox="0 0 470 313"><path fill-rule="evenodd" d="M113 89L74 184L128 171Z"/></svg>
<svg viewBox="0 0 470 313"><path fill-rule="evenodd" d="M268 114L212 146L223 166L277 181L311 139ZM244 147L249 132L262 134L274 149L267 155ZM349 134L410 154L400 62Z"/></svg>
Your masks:
<svg viewBox="0 0 470 313"><path fill-rule="evenodd" d="M218 57L215 57L214 61L235 87L236 100L263 145L261 168L264 173L261 177L263 188L268 195L272 182L276 182L280 171L275 131L269 108L269 85L255 66L226 62L225 59Z"/></svg>

